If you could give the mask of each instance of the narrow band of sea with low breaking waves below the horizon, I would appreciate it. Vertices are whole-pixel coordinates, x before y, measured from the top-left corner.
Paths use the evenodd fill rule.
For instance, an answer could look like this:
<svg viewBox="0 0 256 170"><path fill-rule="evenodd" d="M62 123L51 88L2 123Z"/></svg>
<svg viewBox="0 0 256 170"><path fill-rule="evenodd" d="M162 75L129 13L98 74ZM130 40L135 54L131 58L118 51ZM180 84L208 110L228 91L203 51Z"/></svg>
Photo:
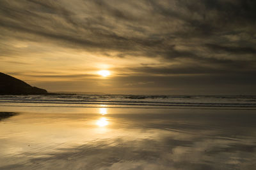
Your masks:
<svg viewBox="0 0 256 170"><path fill-rule="evenodd" d="M103 104L113 106L163 106L163 107L248 107L256 108L256 96L145 96L145 95L44 95L0 96L0 106L20 104Z"/></svg>

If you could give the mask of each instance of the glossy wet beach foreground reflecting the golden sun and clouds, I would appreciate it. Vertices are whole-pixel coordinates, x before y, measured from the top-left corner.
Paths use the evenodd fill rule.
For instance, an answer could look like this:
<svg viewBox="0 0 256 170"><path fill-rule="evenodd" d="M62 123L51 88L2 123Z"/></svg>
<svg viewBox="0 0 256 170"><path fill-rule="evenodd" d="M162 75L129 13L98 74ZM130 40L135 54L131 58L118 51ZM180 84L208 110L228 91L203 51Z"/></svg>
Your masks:
<svg viewBox="0 0 256 170"><path fill-rule="evenodd" d="M0 169L256 167L255 110L95 104L0 111Z"/></svg>

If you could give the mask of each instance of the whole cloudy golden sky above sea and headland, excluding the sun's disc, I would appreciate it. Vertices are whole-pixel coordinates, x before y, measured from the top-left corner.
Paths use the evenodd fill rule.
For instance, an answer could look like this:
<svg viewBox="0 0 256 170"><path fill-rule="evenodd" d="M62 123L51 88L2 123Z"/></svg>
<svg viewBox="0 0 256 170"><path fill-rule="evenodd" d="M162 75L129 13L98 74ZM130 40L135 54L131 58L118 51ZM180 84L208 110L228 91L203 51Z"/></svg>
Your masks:
<svg viewBox="0 0 256 170"><path fill-rule="evenodd" d="M0 71L49 92L256 94L256 1L1 0Z"/></svg>

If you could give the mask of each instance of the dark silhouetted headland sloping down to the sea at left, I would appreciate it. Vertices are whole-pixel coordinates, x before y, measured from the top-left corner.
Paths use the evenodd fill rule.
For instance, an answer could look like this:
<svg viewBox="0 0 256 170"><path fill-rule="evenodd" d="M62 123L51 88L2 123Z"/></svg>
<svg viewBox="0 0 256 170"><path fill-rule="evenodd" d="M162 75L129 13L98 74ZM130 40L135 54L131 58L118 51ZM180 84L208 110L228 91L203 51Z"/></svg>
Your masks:
<svg viewBox="0 0 256 170"><path fill-rule="evenodd" d="M1 94L47 94L47 90L32 87L22 80L0 73L0 95Z"/></svg>

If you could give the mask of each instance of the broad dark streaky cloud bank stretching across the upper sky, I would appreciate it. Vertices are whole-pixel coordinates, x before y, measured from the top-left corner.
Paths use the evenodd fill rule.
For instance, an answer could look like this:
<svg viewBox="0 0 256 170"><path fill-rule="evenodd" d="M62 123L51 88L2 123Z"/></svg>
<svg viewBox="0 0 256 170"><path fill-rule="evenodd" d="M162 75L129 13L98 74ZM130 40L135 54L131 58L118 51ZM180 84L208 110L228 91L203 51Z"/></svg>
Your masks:
<svg viewBox="0 0 256 170"><path fill-rule="evenodd" d="M255 18L256 2L250 0L0 2L3 41L52 43L165 64L131 68L138 74L252 75ZM17 51L5 47L0 45L3 53Z"/></svg>

